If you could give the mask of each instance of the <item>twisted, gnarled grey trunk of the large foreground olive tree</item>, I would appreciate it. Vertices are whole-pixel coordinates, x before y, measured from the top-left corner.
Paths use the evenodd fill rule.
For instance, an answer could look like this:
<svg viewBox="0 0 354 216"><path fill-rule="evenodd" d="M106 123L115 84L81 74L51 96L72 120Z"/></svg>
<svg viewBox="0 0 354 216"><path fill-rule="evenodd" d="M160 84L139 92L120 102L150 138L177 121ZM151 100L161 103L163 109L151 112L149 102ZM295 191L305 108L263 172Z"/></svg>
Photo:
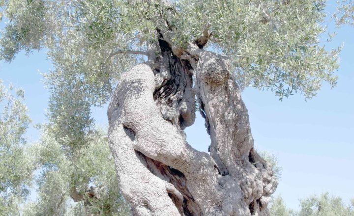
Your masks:
<svg viewBox="0 0 354 216"><path fill-rule="evenodd" d="M108 109L110 148L133 215L268 215L277 182L254 149L224 57L193 44L173 52L162 35L151 47L160 55L121 76ZM196 98L210 155L193 149L183 131L194 122Z"/></svg>

